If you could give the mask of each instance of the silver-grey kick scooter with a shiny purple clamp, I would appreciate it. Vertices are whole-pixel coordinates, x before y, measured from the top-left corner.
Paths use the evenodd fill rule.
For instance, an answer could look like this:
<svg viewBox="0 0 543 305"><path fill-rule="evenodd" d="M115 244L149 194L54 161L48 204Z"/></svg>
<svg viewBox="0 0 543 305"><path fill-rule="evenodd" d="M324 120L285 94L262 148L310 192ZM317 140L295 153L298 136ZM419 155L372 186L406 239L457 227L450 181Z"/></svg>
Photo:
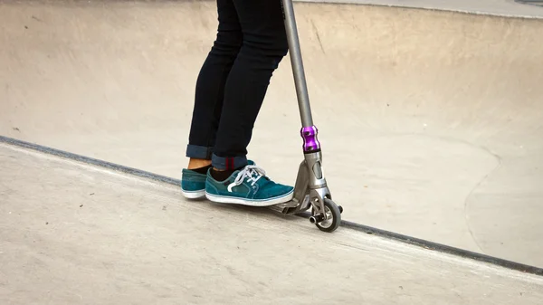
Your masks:
<svg viewBox="0 0 543 305"><path fill-rule="evenodd" d="M332 195L322 172L322 151L318 129L313 124L310 98L301 59L300 40L292 0L281 0L283 18L289 41L291 65L300 108L301 138L304 160L300 164L294 195L290 202L272 208L285 215L301 214L311 208L310 222L319 230L334 232L341 224L343 208L332 201Z"/></svg>

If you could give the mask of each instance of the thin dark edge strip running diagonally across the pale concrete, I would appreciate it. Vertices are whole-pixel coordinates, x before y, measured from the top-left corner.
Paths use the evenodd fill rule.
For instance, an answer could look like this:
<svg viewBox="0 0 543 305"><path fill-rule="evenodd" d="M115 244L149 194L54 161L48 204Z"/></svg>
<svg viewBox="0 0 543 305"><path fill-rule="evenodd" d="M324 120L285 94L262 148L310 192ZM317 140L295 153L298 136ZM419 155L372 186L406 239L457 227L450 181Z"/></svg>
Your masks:
<svg viewBox="0 0 543 305"><path fill-rule="evenodd" d="M73 154L73 153L55 149L55 148L48 148L48 147L44 147L38 144L25 142L23 140L19 140L16 138L8 138L8 137L0 136L0 143L6 143L15 147L19 147L19 148L27 148L27 149L42 152L48 155L57 156L57 157L68 158L68 159L75 160L84 164L90 164L97 167L104 167L104 168L108 168L114 171L129 174L132 176L139 176L139 177L143 177L143 178L150 179L153 181L166 183L172 186L180 186L180 183L181 183L180 180L172 178L172 177L161 176L161 175L153 174L153 173L150 173L138 168L125 167L118 164L103 161L100 159L85 157L85 156ZM298 216L307 218L310 216L310 214L302 213L302 214L299 214ZM408 243L408 244L411 244L420 248L424 248L430 251L436 251L439 253L448 253L448 254L459 256L465 259L470 259L473 261L490 263L492 265L500 266L500 267L507 268L514 271L543 276L543 268L538 268L535 266L530 266L530 265L519 263L519 262L512 262L512 261L500 259L498 257L493 257L486 254L473 253L471 251L462 250L460 248L455 248L455 247L448 246L442 243L433 243L433 242L415 238L412 236L407 236L403 234L389 232L382 229L377 229L377 228L367 226L364 224L357 224L357 223L343 220L341 227L344 227L353 231L365 233L365 234L375 234L377 236L384 237L389 240L394 240L401 243Z"/></svg>

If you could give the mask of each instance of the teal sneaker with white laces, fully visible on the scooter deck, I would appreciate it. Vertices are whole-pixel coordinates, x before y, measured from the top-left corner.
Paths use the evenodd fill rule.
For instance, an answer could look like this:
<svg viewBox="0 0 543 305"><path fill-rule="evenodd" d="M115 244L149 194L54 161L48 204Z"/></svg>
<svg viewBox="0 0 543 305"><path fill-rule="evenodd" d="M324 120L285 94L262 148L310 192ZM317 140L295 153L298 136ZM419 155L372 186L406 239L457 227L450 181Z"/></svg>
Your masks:
<svg viewBox="0 0 543 305"><path fill-rule="evenodd" d="M271 181L261 167L248 165L236 170L224 181L217 181L207 173L205 196L210 201L222 204L269 206L288 202L294 187Z"/></svg>

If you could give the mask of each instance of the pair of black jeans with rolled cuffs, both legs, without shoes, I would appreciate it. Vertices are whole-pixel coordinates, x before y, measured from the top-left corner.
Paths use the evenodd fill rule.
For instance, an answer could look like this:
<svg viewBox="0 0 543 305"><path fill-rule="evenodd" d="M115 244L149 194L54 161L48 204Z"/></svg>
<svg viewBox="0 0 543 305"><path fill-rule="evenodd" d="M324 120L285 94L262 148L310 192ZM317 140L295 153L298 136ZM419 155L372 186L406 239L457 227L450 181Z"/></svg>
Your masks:
<svg viewBox="0 0 543 305"><path fill-rule="evenodd" d="M218 31L198 75L186 157L247 164L271 76L288 52L281 0L217 0Z"/></svg>

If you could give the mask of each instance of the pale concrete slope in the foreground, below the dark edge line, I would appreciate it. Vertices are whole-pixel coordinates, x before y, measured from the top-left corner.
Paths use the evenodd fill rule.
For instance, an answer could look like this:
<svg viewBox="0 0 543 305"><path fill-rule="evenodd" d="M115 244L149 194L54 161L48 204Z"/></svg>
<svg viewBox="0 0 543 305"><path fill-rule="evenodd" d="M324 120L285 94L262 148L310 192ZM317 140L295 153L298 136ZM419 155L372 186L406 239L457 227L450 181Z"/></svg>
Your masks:
<svg viewBox="0 0 543 305"><path fill-rule="evenodd" d="M0 303L539 304L543 278L0 144Z"/></svg>

